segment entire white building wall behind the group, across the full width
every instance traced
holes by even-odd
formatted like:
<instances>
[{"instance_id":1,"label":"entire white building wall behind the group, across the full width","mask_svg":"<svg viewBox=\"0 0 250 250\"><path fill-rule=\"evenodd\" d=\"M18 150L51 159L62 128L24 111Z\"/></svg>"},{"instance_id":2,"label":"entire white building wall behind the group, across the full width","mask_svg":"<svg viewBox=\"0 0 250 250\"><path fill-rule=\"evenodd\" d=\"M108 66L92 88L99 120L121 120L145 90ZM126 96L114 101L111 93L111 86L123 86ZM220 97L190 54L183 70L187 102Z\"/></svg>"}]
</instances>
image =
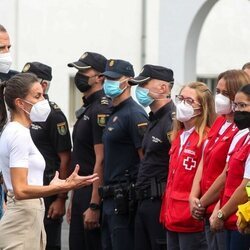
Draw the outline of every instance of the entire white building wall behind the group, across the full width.
<instances>
[{"instance_id":1,"label":"entire white building wall behind the group, across the full width","mask_svg":"<svg viewBox=\"0 0 250 250\"><path fill-rule=\"evenodd\" d=\"M187 80L183 65L188 27L202 4L212 1L145 1L145 63L173 68L177 83L182 84ZM0 23L12 40L13 68L21 70L27 61L35 60L51 65L50 97L68 116L68 80L75 70L67 63L77 60L83 52L96 51L107 58L131 61L136 73L140 72L142 2L1 0ZM250 61L249 16L248 0L218 1L203 25L196 72L191 67L190 76L217 74Z\"/></svg>"}]
</instances>

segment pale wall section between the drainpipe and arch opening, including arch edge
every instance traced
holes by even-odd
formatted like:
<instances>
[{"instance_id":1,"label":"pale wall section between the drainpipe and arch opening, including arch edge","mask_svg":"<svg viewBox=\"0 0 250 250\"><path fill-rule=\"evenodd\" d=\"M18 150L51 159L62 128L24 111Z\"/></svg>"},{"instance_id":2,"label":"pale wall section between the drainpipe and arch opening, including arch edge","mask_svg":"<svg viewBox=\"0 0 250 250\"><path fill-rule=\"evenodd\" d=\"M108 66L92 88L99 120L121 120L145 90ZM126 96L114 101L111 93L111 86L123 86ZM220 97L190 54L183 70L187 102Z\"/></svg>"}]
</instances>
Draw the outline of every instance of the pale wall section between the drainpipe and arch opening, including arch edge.
<instances>
[{"instance_id":1,"label":"pale wall section between the drainpipe and arch opening, including arch edge","mask_svg":"<svg viewBox=\"0 0 250 250\"><path fill-rule=\"evenodd\" d=\"M196 51L202 24L217 0L161 0L159 64L174 70L172 95L196 80Z\"/></svg>"}]
</instances>

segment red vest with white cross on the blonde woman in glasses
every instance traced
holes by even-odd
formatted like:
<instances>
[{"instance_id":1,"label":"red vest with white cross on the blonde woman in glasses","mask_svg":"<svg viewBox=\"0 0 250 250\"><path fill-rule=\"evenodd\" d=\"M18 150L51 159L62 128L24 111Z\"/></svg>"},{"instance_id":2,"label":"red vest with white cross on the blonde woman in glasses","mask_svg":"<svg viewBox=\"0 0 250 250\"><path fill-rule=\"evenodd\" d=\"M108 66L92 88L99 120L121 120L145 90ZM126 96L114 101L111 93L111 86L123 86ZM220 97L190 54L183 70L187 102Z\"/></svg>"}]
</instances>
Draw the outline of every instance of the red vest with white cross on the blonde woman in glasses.
<instances>
[{"instance_id":1,"label":"red vest with white cross on the blonde woman in glasses","mask_svg":"<svg viewBox=\"0 0 250 250\"><path fill-rule=\"evenodd\" d=\"M203 221L195 220L191 216L189 194L201 159L204 141L198 147L199 135L193 131L179 154L181 132L169 151L169 174L160 222L171 231L200 232L204 229L204 224Z\"/></svg>"}]
</instances>

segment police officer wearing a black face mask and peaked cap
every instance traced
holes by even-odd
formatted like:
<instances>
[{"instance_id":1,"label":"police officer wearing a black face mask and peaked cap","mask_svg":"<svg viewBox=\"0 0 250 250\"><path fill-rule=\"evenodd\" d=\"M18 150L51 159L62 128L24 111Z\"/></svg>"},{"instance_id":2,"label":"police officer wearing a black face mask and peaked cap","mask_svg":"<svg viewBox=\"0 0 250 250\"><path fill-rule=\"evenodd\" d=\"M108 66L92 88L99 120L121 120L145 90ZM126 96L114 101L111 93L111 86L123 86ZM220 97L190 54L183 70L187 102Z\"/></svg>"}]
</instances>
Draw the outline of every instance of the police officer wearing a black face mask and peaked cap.
<instances>
[{"instance_id":1,"label":"police officer wearing a black face mask and peaked cap","mask_svg":"<svg viewBox=\"0 0 250 250\"><path fill-rule=\"evenodd\" d=\"M80 165L80 175L98 173L99 181L87 188L74 190L71 205L69 246L71 250L101 249L100 197L102 185L102 132L111 113L111 102L103 92L107 59L98 53L85 52L69 67L78 70L75 85L83 93L84 105L76 112L73 130L72 166Z\"/></svg>"}]
</instances>

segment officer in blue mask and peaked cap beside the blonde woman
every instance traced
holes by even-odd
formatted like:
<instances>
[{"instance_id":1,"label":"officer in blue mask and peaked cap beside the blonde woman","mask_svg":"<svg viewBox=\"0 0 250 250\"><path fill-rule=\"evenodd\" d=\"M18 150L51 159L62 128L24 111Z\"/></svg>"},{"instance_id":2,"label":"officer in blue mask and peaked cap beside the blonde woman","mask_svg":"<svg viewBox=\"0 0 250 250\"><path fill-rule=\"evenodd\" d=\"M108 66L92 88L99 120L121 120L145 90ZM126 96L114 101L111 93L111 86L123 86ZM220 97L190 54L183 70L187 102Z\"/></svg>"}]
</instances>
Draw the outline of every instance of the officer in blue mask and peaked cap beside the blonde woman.
<instances>
[{"instance_id":1,"label":"officer in blue mask and peaked cap beside the blonde woman","mask_svg":"<svg viewBox=\"0 0 250 250\"><path fill-rule=\"evenodd\" d=\"M173 82L171 69L149 64L144 65L139 76L129 80L131 85L138 85L135 90L138 102L151 109L136 181L136 250L166 249L166 232L159 223L159 215L168 174L169 139L175 109L170 99Z\"/></svg>"}]
</instances>

